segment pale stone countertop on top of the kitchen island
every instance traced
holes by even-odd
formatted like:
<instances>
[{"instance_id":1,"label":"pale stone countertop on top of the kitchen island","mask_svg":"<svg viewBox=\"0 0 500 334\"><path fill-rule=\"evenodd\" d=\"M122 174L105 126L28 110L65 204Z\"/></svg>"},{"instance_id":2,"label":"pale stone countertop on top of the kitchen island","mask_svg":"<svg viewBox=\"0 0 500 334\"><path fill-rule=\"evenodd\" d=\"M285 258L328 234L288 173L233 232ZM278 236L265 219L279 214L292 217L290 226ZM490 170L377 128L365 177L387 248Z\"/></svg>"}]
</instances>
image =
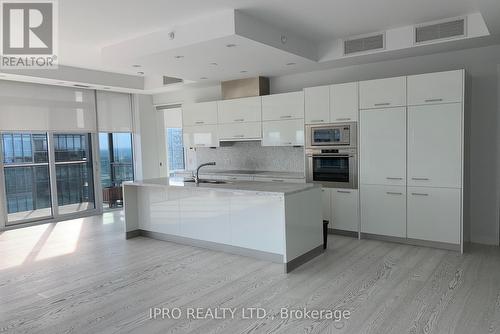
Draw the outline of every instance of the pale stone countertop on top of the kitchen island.
<instances>
[{"instance_id":1,"label":"pale stone countertop on top of the kitchen island","mask_svg":"<svg viewBox=\"0 0 500 334\"><path fill-rule=\"evenodd\" d=\"M220 191L247 191L269 194L293 194L312 187L319 187L313 183L287 183L287 182L255 182L255 181L227 181L227 183L212 184L184 182L183 177L158 178L142 181L124 182L126 186L153 186L153 187L185 187L189 189L210 189Z\"/></svg>"}]
</instances>

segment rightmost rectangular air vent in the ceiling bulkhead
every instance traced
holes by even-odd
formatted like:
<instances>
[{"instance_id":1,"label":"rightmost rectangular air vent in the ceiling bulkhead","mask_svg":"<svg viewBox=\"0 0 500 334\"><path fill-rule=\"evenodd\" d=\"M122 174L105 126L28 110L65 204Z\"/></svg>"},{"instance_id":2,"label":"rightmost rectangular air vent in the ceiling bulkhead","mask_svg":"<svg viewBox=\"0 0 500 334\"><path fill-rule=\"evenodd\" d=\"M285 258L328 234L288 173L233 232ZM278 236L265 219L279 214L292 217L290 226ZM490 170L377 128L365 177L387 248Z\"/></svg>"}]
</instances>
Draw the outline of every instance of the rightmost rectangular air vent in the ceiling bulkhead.
<instances>
[{"instance_id":1,"label":"rightmost rectangular air vent in the ceiling bulkhead","mask_svg":"<svg viewBox=\"0 0 500 334\"><path fill-rule=\"evenodd\" d=\"M415 44L464 36L465 18L415 27Z\"/></svg>"}]
</instances>

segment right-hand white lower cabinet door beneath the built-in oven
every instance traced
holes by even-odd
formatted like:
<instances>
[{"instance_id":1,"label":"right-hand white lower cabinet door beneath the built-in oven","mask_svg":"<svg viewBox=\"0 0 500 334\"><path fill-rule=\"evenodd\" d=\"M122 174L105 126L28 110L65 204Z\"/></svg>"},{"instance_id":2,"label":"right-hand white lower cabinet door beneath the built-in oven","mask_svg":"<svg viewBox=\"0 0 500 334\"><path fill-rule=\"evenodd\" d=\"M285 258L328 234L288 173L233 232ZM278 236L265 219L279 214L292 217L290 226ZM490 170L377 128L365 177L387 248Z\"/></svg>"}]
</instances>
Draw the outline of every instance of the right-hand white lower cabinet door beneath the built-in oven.
<instances>
[{"instance_id":1,"label":"right-hand white lower cabinet door beneath the built-in oven","mask_svg":"<svg viewBox=\"0 0 500 334\"><path fill-rule=\"evenodd\" d=\"M359 194L357 189L332 189L331 228L358 232Z\"/></svg>"}]
</instances>

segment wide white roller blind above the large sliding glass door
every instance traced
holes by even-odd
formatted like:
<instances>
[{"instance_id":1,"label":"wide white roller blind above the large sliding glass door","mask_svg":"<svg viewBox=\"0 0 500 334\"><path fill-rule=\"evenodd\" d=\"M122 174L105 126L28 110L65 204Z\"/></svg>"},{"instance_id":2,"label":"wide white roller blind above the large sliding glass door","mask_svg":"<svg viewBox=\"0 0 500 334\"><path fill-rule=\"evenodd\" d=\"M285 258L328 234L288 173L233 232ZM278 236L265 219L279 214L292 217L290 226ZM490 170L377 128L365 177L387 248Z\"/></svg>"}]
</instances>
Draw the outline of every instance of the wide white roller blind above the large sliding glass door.
<instances>
[{"instance_id":1,"label":"wide white roller blind above the large sliding glass door","mask_svg":"<svg viewBox=\"0 0 500 334\"><path fill-rule=\"evenodd\" d=\"M0 81L1 131L96 131L94 91Z\"/></svg>"}]
</instances>

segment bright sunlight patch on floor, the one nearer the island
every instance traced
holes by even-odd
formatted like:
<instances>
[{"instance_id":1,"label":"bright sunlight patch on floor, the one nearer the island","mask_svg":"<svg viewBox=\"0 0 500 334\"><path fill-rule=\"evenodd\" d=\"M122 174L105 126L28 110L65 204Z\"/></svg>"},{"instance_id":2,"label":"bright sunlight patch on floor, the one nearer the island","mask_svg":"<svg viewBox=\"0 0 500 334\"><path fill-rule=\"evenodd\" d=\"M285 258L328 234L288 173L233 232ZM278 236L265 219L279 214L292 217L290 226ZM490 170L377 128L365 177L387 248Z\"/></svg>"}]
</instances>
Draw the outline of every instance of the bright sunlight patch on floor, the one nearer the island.
<instances>
[{"instance_id":1,"label":"bright sunlight patch on floor, the one nearer the island","mask_svg":"<svg viewBox=\"0 0 500 334\"><path fill-rule=\"evenodd\" d=\"M73 253L80 238L83 220L79 218L57 223L35 260Z\"/></svg>"}]
</instances>

